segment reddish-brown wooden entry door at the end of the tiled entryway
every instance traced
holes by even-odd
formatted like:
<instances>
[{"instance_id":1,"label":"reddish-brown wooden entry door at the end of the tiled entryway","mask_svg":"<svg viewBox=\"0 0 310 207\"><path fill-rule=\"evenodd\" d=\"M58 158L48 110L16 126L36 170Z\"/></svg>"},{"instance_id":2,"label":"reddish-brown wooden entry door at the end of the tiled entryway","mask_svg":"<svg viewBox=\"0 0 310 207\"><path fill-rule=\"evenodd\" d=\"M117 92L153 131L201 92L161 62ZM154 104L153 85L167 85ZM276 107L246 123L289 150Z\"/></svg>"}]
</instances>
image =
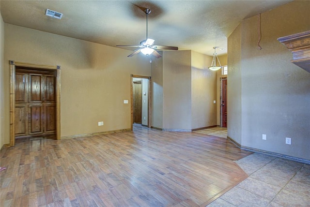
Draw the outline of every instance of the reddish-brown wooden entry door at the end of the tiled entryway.
<instances>
[{"instance_id":1,"label":"reddish-brown wooden entry door at the end of the tiled entryway","mask_svg":"<svg viewBox=\"0 0 310 207\"><path fill-rule=\"evenodd\" d=\"M221 78L220 87L220 119L221 127L227 128L227 78Z\"/></svg>"}]
</instances>

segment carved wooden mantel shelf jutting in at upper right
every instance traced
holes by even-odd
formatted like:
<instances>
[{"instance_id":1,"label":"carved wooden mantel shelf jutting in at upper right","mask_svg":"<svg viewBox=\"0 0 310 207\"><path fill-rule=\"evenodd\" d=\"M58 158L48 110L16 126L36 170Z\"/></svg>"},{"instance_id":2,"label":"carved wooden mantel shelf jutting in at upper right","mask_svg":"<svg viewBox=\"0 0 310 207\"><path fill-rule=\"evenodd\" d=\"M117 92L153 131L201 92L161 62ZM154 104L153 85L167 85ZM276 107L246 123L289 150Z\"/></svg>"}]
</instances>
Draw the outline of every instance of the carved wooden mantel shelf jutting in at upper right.
<instances>
[{"instance_id":1,"label":"carved wooden mantel shelf jutting in at upper right","mask_svg":"<svg viewBox=\"0 0 310 207\"><path fill-rule=\"evenodd\" d=\"M278 40L292 51L291 62L310 73L310 31L279 37Z\"/></svg>"}]
</instances>

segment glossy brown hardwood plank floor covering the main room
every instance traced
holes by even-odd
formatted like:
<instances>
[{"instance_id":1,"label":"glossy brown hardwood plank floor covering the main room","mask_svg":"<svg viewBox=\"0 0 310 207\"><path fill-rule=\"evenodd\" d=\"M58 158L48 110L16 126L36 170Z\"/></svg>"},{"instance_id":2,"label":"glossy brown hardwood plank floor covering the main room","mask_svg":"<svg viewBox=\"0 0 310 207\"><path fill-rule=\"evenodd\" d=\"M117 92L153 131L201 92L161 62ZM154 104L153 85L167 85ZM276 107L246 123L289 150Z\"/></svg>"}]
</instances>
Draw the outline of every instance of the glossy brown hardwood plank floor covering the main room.
<instances>
[{"instance_id":1,"label":"glossy brown hardwood plank floor covering the main room","mask_svg":"<svg viewBox=\"0 0 310 207\"><path fill-rule=\"evenodd\" d=\"M225 138L144 127L1 150L1 207L206 206L247 174Z\"/></svg>"}]
</instances>

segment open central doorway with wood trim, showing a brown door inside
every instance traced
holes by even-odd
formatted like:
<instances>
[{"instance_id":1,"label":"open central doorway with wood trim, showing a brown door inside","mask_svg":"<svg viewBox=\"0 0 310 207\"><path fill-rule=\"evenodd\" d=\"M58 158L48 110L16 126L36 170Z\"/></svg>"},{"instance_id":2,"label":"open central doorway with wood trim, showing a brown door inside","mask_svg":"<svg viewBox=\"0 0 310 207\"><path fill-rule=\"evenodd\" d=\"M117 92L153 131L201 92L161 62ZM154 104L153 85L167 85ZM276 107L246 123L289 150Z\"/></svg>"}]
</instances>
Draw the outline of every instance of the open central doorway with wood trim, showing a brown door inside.
<instances>
[{"instance_id":1,"label":"open central doorway with wood trim, showing a brown door inside","mask_svg":"<svg viewBox=\"0 0 310 207\"><path fill-rule=\"evenodd\" d=\"M131 75L131 130L133 124L151 128L151 77Z\"/></svg>"}]
</instances>

